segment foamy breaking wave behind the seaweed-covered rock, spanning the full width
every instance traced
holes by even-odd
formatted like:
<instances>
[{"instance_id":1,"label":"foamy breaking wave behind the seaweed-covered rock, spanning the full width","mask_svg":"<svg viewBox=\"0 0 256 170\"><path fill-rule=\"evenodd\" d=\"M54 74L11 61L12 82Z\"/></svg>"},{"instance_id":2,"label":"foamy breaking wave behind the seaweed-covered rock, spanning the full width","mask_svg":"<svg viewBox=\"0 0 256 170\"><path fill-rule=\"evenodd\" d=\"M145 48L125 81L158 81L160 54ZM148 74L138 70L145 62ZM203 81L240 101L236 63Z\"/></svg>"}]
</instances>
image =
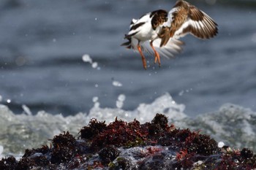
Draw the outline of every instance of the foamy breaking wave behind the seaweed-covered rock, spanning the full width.
<instances>
[{"instance_id":1,"label":"foamy breaking wave behind the seaweed-covered rock, spanning the full width","mask_svg":"<svg viewBox=\"0 0 256 170\"><path fill-rule=\"evenodd\" d=\"M60 134L62 131L78 136L78 131L87 125L91 118L105 120L110 123L118 119L141 123L152 120L155 114L163 113L169 123L179 128L200 130L208 134L217 142L224 142L236 148L256 148L256 112L234 104L224 104L218 111L209 112L197 117L189 117L184 113L184 104L177 104L169 93L156 98L151 104L140 104L135 110L124 110L122 104L125 96L121 95L116 101L116 108L100 107L97 98L94 98L94 107L89 113L79 112L76 115L64 117L51 115L40 111L32 115L29 108L23 105L24 112L15 115L7 106L0 105L0 158L4 155L22 155L25 149L50 144L47 139ZM2 155L1 155L2 154Z\"/></svg>"}]
</instances>

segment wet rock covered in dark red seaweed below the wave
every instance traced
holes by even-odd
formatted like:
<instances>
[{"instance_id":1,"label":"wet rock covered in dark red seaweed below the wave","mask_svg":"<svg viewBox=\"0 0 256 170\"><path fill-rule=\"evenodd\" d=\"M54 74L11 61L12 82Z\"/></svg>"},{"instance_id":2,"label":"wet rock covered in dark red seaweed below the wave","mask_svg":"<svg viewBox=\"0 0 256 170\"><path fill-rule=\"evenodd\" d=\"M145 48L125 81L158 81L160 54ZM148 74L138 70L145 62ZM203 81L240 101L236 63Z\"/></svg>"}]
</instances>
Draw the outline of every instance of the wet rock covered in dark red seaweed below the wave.
<instances>
[{"instance_id":1,"label":"wet rock covered in dark red seaweed below the wave","mask_svg":"<svg viewBox=\"0 0 256 170\"><path fill-rule=\"evenodd\" d=\"M200 131L168 125L162 114L144 124L91 119L79 133L54 136L19 161L2 158L0 169L256 169L252 150L219 148Z\"/></svg>"}]
</instances>

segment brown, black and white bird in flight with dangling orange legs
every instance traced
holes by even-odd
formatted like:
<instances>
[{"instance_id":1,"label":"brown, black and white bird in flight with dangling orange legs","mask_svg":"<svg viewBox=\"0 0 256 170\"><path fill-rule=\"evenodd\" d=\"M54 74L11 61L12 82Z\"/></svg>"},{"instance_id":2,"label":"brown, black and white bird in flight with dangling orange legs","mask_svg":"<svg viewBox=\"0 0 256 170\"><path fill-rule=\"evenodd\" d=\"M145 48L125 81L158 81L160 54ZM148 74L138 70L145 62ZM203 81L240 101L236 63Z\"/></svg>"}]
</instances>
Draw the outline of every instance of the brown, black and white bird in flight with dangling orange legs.
<instances>
[{"instance_id":1,"label":"brown, black and white bird in flight with dangling orange legs","mask_svg":"<svg viewBox=\"0 0 256 170\"><path fill-rule=\"evenodd\" d=\"M187 1L178 0L170 12L159 9L138 20L132 19L129 33L124 36L128 42L122 45L138 50L146 69L143 51L154 54L154 63L161 66L160 55L172 58L181 52L184 43L178 39L182 36L192 34L200 39L209 39L217 33L217 23L205 12Z\"/></svg>"}]
</instances>

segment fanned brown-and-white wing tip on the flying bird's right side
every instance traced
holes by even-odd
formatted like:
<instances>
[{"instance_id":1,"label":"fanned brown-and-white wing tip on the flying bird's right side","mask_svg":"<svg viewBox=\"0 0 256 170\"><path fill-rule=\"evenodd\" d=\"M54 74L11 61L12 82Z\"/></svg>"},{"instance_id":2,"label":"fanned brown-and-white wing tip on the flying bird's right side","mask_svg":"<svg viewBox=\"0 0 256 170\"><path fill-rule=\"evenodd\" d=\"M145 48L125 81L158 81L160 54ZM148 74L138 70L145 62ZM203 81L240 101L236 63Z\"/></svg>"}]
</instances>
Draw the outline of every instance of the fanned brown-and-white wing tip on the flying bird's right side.
<instances>
[{"instance_id":1,"label":"fanned brown-and-white wing tip on the flying bird's right side","mask_svg":"<svg viewBox=\"0 0 256 170\"><path fill-rule=\"evenodd\" d=\"M191 5L187 20L176 30L173 37L178 39L186 34L192 34L200 39L209 39L217 35L217 26L205 12Z\"/></svg>"}]
</instances>

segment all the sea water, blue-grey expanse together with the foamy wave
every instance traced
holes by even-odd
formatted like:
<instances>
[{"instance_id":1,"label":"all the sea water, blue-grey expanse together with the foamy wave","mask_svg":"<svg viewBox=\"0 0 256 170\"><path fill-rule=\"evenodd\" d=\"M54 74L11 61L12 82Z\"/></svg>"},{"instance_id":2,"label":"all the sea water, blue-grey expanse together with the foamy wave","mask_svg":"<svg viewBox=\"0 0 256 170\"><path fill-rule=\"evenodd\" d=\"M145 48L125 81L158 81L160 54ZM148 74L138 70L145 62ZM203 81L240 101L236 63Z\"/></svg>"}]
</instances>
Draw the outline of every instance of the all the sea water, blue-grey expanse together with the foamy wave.
<instances>
[{"instance_id":1,"label":"all the sea water, blue-grey expanse together with the foamy wave","mask_svg":"<svg viewBox=\"0 0 256 170\"><path fill-rule=\"evenodd\" d=\"M255 1L195 1L214 39L154 65L124 49L132 18L175 1L0 1L0 145L4 155L77 134L91 117L150 121L157 112L234 147L255 148ZM1 153L1 148L0 148Z\"/></svg>"}]
</instances>

